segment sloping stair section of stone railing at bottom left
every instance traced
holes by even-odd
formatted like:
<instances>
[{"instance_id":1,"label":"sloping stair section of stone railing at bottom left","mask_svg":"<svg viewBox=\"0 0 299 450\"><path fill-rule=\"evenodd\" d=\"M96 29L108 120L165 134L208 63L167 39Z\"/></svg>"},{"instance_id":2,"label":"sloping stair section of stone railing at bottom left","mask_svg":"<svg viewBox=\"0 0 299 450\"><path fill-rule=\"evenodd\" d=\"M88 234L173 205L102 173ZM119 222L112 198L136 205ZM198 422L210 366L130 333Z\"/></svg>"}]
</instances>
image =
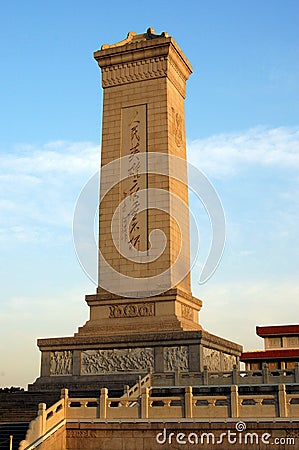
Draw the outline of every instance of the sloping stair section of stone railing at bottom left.
<instances>
[{"instance_id":1,"label":"sloping stair section of stone railing at bottom left","mask_svg":"<svg viewBox=\"0 0 299 450\"><path fill-rule=\"evenodd\" d=\"M68 390L62 389L61 399L46 409L45 403L38 406L37 417L30 422L25 440L21 441L19 450L38 448L57 430L65 427Z\"/></svg>"}]
</instances>

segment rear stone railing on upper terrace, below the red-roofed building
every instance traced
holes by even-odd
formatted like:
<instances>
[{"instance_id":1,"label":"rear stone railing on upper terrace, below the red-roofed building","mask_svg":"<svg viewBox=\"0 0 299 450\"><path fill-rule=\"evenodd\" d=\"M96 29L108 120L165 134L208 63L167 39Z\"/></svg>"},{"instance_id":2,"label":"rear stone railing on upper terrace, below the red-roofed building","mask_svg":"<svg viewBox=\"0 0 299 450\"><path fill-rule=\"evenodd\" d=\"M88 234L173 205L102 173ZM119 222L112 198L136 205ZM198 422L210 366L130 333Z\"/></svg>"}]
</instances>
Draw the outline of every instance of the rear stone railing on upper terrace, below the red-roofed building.
<instances>
[{"instance_id":1,"label":"rear stone railing on upper terrace, below the red-roofed building","mask_svg":"<svg viewBox=\"0 0 299 450\"><path fill-rule=\"evenodd\" d=\"M261 370L233 370L226 372L209 372L205 367L202 372L164 372L152 374L154 386L225 386L247 384L290 384L299 383L299 364L294 369L270 370L267 364Z\"/></svg>"}]
</instances>

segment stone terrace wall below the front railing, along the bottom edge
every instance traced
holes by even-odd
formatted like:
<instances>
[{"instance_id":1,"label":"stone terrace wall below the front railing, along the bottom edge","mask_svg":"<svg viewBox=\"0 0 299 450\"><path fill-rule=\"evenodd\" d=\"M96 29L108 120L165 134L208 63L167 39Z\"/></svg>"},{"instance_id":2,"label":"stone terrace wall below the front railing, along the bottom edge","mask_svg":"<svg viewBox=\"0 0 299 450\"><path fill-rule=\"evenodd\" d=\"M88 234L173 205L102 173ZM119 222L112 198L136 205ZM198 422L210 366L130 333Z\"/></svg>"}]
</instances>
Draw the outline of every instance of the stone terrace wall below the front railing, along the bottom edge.
<instances>
[{"instance_id":1,"label":"stone terrace wall below the front railing, along the bottom edge","mask_svg":"<svg viewBox=\"0 0 299 450\"><path fill-rule=\"evenodd\" d=\"M247 419L243 432L236 431L240 419L184 419L67 423L65 437L51 441L51 450L173 450L179 448L210 450L268 450L276 439L277 448L294 450L298 442L298 421L291 419ZM243 424L243 422L240 422ZM247 434L247 437L245 435ZM54 435L55 436L55 435ZM230 440L228 438L230 436ZM57 436L57 440L59 436ZM237 442L237 445L233 445ZM190 444L188 445L188 443ZM217 445L219 444L220 445ZM221 445L222 443L222 445ZM182 445L183 444L183 445ZM187 445L184 445L187 444ZM195 445L193 445L195 444ZM65 445L65 447L63 447ZM298 444L297 444L298 445ZM274 446L273 446L274 447ZM271 448L271 447L270 447ZM274 447L275 448L275 447ZM298 448L298 447L297 447Z\"/></svg>"}]
</instances>

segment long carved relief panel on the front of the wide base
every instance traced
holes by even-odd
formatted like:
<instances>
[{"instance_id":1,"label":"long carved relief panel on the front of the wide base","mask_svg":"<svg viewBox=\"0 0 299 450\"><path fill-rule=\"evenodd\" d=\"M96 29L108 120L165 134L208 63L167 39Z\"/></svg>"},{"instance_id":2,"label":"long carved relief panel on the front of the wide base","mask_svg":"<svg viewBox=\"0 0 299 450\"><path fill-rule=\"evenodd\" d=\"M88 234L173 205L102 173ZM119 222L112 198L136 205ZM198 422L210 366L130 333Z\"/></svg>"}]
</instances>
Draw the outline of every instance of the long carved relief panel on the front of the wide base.
<instances>
[{"instance_id":1,"label":"long carved relief panel on the front of the wide base","mask_svg":"<svg viewBox=\"0 0 299 450\"><path fill-rule=\"evenodd\" d=\"M152 348L85 350L81 357L81 374L148 371L154 366Z\"/></svg>"}]
</instances>

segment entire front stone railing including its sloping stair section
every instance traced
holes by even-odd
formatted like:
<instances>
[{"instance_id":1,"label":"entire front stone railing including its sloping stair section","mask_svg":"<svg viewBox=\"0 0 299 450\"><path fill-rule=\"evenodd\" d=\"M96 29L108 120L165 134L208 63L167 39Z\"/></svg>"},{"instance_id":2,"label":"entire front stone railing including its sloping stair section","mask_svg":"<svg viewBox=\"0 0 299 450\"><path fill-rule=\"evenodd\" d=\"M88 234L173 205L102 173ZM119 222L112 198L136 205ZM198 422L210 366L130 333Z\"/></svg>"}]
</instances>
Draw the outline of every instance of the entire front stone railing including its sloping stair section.
<instances>
[{"instance_id":1,"label":"entire front stone railing including its sloping stair section","mask_svg":"<svg viewBox=\"0 0 299 450\"><path fill-rule=\"evenodd\" d=\"M143 384L147 384L145 380ZM101 389L99 398L69 398L63 389L61 399L46 409L39 404L38 416L30 423L20 450L41 448L58 430L57 447L64 448L68 421L98 420L167 420L167 419L225 419L225 418L299 418L299 387L278 384L268 386L185 386L173 388L143 387L141 394L111 398L108 389ZM270 389L269 389L270 388ZM245 391L244 391L245 389ZM240 392L239 392L240 391ZM57 433L56 433L57 435ZM49 441L47 441L49 442Z\"/></svg>"}]
</instances>

